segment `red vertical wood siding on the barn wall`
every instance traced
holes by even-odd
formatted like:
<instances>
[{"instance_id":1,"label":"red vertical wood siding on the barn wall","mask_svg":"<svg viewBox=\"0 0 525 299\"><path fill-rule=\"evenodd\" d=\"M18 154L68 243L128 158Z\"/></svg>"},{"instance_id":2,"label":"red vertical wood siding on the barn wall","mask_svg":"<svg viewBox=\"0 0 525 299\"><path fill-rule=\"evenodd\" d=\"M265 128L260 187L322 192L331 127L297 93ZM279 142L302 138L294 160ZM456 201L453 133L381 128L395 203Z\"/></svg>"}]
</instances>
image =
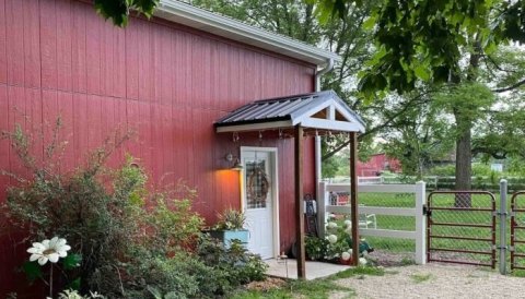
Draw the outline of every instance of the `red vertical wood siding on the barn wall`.
<instances>
[{"instance_id":1,"label":"red vertical wood siding on the barn wall","mask_svg":"<svg viewBox=\"0 0 525 299\"><path fill-rule=\"evenodd\" d=\"M314 89L315 67L163 20L131 20L126 29L73 0L0 0L0 130L16 124L45 141L61 116L68 141L61 169L79 166L109 132L136 130L129 152L154 184L182 179L198 190L195 208L211 224L240 205L238 174L223 170L240 145L278 147L281 250L293 241L293 140L214 133L213 121L260 98ZM266 134L266 133L265 133ZM306 142L305 192L314 192L314 144ZM44 156L44 143L33 150ZM0 140L0 168L23 172ZM0 177L0 202L10 184ZM0 217L1 223L2 217ZM27 258L14 231L0 231L0 297L24 289L14 273ZM24 297L19 297L24 298Z\"/></svg>"}]
</instances>

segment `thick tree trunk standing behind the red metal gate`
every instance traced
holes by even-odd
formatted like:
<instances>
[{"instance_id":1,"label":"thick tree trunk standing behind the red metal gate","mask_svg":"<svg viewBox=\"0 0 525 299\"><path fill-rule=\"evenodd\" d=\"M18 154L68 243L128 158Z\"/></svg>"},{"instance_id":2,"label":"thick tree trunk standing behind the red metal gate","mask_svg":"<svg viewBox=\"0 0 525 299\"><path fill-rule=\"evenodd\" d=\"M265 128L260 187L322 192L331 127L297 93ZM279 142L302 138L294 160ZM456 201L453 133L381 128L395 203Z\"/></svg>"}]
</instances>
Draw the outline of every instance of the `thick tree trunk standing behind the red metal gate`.
<instances>
[{"instance_id":1,"label":"thick tree trunk standing behind the red metal gate","mask_svg":"<svg viewBox=\"0 0 525 299\"><path fill-rule=\"evenodd\" d=\"M470 190L471 189L471 128L472 122L465 118L460 112L455 112L457 124L456 136L456 190ZM454 205L456 207L470 207L471 199L469 194L457 194Z\"/></svg>"}]
</instances>

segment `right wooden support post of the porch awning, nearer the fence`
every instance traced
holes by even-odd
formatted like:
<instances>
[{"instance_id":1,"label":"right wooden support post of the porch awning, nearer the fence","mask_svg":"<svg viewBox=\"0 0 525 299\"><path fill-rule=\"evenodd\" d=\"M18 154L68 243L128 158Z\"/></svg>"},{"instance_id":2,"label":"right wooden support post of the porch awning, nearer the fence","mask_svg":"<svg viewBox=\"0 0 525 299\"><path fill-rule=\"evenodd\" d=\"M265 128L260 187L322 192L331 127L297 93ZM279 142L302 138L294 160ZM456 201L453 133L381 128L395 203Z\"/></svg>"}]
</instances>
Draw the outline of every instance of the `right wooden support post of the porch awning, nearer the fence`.
<instances>
[{"instance_id":1,"label":"right wooden support post of the porch awning, nearer the fence","mask_svg":"<svg viewBox=\"0 0 525 299\"><path fill-rule=\"evenodd\" d=\"M352 222L352 264L359 263L359 215L358 215L358 134L350 132L350 211Z\"/></svg>"}]
</instances>

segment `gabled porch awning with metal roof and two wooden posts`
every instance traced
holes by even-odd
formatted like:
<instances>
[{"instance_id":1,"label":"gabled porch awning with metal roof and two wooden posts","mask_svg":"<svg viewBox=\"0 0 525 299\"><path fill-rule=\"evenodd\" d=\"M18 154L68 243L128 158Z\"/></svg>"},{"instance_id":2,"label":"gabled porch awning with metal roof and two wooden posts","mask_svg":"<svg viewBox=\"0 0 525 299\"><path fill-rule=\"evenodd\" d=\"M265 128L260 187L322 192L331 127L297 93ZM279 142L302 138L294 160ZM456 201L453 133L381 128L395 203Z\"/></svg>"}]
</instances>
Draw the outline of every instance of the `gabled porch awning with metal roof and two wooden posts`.
<instances>
[{"instance_id":1,"label":"gabled porch awning with metal roof and two wooden posts","mask_svg":"<svg viewBox=\"0 0 525 299\"><path fill-rule=\"evenodd\" d=\"M298 243L298 277L305 277L304 206L303 206L303 136L348 132L350 135L350 199L353 241L353 263L359 254L357 214L357 134L363 133L364 122L334 91L279 98L261 99L244 105L219 119L218 133L293 131L295 174L295 224Z\"/></svg>"}]
</instances>

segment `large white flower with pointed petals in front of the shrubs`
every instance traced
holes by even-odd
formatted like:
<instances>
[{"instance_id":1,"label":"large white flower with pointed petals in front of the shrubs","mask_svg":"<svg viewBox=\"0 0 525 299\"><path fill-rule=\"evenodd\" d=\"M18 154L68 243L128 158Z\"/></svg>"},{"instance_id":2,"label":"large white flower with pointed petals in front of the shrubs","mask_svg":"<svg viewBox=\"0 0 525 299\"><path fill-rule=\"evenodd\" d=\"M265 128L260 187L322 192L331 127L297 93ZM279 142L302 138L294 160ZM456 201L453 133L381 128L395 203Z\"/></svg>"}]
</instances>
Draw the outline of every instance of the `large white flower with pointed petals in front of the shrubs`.
<instances>
[{"instance_id":1,"label":"large white flower with pointed petals in front of the shrubs","mask_svg":"<svg viewBox=\"0 0 525 299\"><path fill-rule=\"evenodd\" d=\"M45 265L47 261L56 263L58 259L68 256L68 250L70 249L71 247L67 244L66 239L55 237L51 240L34 242L33 247L27 249L27 252L31 253L30 261L38 260L38 264Z\"/></svg>"}]
</instances>

